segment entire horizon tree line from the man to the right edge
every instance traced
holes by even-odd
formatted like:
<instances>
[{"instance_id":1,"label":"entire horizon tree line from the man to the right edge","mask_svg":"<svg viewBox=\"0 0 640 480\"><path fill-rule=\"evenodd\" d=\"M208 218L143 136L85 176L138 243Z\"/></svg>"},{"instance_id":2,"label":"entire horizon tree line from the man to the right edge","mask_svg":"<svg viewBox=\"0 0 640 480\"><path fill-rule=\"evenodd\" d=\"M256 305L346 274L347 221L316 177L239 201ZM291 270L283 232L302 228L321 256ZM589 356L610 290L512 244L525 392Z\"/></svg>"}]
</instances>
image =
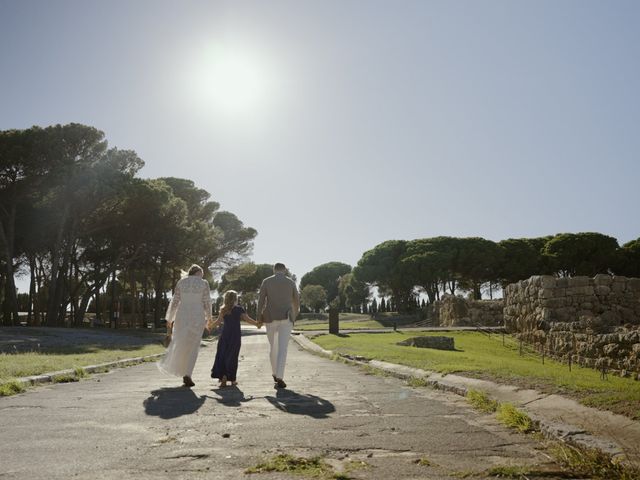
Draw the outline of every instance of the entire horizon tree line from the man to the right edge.
<instances>
[{"instance_id":1,"label":"entire horizon tree line from the man to the right edge","mask_svg":"<svg viewBox=\"0 0 640 480\"><path fill-rule=\"evenodd\" d=\"M481 299L532 275L640 276L640 238L622 246L597 232L560 233L494 242L480 237L389 240L366 251L355 267L318 265L302 276L308 311L412 312L444 294ZM381 299L371 301L372 289ZM427 302L421 297L426 297Z\"/></svg>"}]
</instances>

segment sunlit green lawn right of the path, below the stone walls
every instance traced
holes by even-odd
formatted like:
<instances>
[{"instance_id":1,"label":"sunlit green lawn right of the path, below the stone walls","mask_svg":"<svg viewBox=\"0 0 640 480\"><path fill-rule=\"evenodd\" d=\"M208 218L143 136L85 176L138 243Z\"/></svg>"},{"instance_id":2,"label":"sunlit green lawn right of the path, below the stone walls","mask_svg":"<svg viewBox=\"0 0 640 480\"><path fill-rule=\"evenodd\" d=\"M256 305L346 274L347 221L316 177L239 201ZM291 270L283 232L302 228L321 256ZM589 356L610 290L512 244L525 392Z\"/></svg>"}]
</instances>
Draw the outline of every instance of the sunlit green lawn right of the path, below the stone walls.
<instances>
[{"instance_id":1,"label":"sunlit green lawn right of the path, below the stone walls","mask_svg":"<svg viewBox=\"0 0 640 480\"><path fill-rule=\"evenodd\" d=\"M421 335L442 335L422 333ZM640 382L600 373L590 368L573 366L546 359L525 349L519 355L518 344L510 337L478 332L447 332L454 337L456 351L403 347L396 345L414 334L354 333L344 336L321 335L313 340L337 353L361 355L440 373L459 373L497 382L535 388L548 393L562 393L584 405L610 410L640 420Z\"/></svg>"}]
</instances>

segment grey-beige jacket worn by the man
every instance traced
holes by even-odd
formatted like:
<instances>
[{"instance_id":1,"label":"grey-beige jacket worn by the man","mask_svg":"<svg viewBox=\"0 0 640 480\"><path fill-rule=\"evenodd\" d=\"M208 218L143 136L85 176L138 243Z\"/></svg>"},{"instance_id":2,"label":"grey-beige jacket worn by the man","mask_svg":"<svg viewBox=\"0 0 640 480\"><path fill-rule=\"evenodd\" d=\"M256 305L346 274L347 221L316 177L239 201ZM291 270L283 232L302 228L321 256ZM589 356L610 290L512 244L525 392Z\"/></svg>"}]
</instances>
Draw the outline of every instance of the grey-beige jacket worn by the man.
<instances>
[{"instance_id":1,"label":"grey-beige jacket worn by the man","mask_svg":"<svg viewBox=\"0 0 640 480\"><path fill-rule=\"evenodd\" d=\"M264 323L274 320L295 321L300 311L300 296L293 280L284 273L265 278L260 286L258 319Z\"/></svg>"}]
</instances>

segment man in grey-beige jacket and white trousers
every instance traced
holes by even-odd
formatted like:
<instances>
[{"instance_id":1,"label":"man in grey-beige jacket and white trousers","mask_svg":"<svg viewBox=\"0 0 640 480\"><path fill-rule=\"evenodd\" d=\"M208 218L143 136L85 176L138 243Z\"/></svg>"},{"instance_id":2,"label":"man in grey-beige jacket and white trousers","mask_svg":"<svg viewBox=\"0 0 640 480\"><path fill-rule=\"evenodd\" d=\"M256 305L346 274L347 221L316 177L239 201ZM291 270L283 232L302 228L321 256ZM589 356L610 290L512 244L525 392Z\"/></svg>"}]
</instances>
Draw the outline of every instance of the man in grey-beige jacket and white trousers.
<instances>
[{"instance_id":1,"label":"man in grey-beige jacket and white trousers","mask_svg":"<svg viewBox=\"0 0 640 480\"><path fill-rule=\"evenodd\" d=\"M300 296L293 280L286 276L287 267L276 263L273 275L265 278L260 286L258 300L258 321L267 328L269 357L274 388L286 388L284 365L287 361L287 347L293 322L300 311Z\"/></svg>"}]
</instances>

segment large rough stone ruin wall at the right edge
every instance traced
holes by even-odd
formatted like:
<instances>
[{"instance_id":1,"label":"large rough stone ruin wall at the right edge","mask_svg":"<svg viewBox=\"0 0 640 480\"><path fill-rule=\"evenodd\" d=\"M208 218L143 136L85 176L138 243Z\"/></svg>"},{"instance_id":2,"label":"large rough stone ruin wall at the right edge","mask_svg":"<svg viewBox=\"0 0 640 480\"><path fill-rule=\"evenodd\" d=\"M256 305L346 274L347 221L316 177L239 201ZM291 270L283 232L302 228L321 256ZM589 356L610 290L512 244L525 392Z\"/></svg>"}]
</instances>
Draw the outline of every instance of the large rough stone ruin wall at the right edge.
<instances>
[{"instance_id":1,"label":"large rough stone ruin wall at the right edge","mask_svg":"<svg viewBox=\"0 0 640 480\"><path fill-rule=\"evenodd\" d=\"M640 379L640 278L534 276L504 294L507 331L559 360Z\"/></svg>"}]
</instances>

